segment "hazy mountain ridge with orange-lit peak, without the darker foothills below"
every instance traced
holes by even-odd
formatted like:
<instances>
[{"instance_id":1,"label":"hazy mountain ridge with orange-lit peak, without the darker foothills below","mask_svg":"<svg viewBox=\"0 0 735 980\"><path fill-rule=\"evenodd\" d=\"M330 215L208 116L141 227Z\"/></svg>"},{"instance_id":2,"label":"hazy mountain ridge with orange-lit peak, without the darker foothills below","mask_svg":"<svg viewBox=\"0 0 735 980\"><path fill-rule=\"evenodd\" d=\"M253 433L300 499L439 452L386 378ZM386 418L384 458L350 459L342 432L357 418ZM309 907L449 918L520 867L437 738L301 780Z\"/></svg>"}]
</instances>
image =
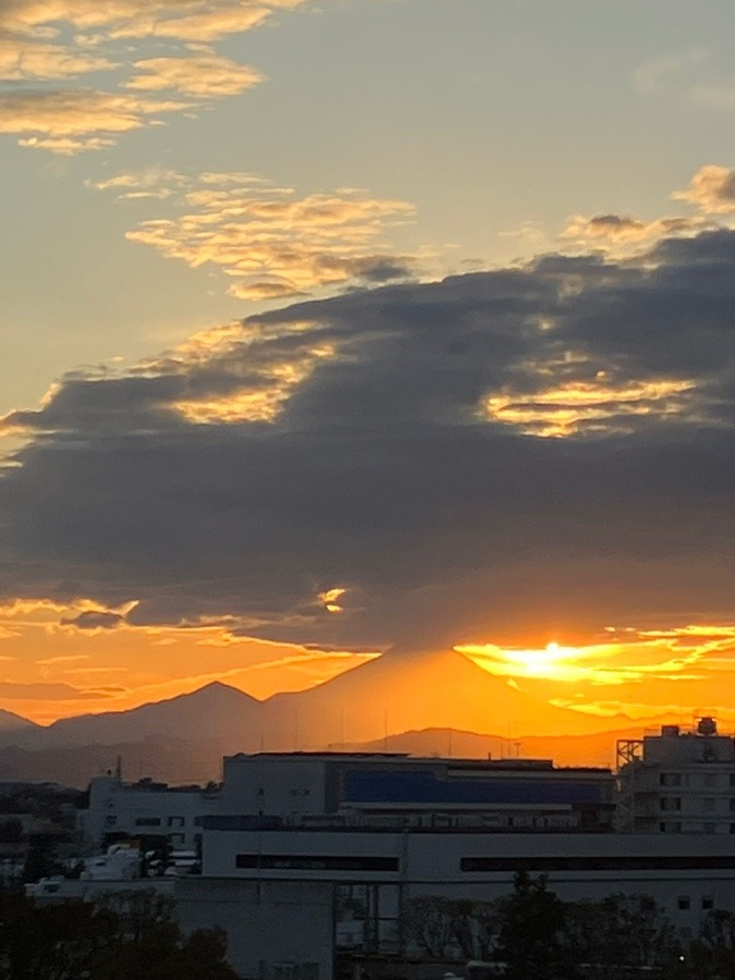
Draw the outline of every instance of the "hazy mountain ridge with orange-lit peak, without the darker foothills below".
<instances>
[{"instance_id":1,"label":"hazy mountain ridge with orange-lit peak, without the darker foothills below","mask_svg":"<svg viewBox=\"0 0 735 980\"><path fill-rule=\"evenodd\" d=\"M335 743L367 743L390 731L429 727L532 735L583 735L630 725L556 708L490 674L454 650L391 651L311 688L259 700L213 681L187 694L136 708L79 714L48 726L3 731L0 746L60 748L114 745L149 738L218 740L230 751L319 750Z\"/></svg>"}]
</instances>

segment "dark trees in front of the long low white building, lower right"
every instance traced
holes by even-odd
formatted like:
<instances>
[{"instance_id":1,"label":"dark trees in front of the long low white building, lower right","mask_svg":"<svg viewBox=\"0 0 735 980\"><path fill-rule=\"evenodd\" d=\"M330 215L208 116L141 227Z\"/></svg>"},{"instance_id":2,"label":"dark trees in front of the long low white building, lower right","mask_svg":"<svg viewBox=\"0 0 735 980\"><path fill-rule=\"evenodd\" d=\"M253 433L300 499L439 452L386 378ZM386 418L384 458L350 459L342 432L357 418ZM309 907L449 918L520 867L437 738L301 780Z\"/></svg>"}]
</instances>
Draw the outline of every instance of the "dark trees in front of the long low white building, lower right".
<instances>
[{"instance_id":1,"label":"dark trees in front of the long low white building, lower right","mask_svg":"<svg viewBox=\"0 0 735 980\"><path fill-rule=\"evenodd\" d=\"M518 872L495 902L436 895L403 908L404 946L436 960L502 965L506 980L735 980L735 915L708 911L684 943L650 895L562 902L543 877Z\"/></svg>"}]
</instances>

